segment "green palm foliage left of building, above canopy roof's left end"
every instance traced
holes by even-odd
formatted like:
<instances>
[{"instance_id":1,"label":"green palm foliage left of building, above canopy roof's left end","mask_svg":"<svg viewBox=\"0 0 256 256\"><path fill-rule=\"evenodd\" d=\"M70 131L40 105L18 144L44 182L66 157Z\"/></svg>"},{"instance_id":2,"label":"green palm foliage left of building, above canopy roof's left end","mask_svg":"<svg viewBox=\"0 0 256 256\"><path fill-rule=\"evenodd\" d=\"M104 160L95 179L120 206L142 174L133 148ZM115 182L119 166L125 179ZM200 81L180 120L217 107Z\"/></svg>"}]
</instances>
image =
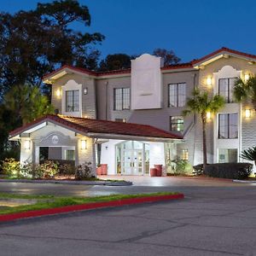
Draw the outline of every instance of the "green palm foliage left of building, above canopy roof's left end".
<instances>
[{"instance_id":1,"label":"green palm foliage left of building, above canopy roof's left end","mask_svg":"<svg viewBox=\"0 0 256 256\"><path fill-rule=\"evenodd\" d=\"M3 98L6 110L13 113L15 119L26 125L34 119L48 113L54 113L47 96L43 96L37 86L14 86Z\"/></svg>"}]
</instances>

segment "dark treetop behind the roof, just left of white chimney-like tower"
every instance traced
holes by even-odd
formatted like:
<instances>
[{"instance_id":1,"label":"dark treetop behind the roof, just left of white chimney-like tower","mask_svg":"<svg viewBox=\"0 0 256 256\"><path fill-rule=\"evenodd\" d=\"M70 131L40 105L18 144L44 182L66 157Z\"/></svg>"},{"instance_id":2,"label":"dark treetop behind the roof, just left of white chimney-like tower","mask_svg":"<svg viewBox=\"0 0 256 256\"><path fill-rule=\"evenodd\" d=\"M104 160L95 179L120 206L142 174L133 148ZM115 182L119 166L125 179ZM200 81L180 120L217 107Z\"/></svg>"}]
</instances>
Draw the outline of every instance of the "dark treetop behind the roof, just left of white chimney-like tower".
<instances>
[{"instance_id":1,"label":"dark treetop behind the roof, just left of white chimney-like tower","mask_svg":"<svg viewBox=\"0 0 256 256\"><path fill-rule=\"evenodd\" d=\"M131 67L131 56L125 54L107 55L100 62L99 71L126 69Z\"/></svg>"}]
</instances>

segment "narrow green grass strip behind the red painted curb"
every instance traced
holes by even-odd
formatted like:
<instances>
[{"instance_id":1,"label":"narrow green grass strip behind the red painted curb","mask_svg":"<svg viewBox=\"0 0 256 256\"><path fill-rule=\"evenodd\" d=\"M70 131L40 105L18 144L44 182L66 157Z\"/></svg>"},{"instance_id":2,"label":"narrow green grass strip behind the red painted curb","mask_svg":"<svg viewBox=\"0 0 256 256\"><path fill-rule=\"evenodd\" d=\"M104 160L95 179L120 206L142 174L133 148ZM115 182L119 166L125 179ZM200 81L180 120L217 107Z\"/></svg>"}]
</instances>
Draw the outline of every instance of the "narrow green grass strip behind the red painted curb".
<instances>
[{"instance_id":1,"label":"narrow green grass strip behind the red painted curb","mask_svg":"<svg viewBox=\"0 0 256 256\"><path fill-rule=\"evenodd\" d=\"M177 192L158 192L150 194L136 194L136 195L104 195L94 197L73 197L73 196L55 196L55 195L15 195L0 193L0 199L33 199L37 200L37 203L32 205L23 205L18 207L4 207L0 208L0 214L8 214L15 212L27 212L32 210L41 210L55 207L66 207L91 202L100 201L114 201L128 198L152 196L152 195L176 195Z\"/></svg>"}]
</instances>

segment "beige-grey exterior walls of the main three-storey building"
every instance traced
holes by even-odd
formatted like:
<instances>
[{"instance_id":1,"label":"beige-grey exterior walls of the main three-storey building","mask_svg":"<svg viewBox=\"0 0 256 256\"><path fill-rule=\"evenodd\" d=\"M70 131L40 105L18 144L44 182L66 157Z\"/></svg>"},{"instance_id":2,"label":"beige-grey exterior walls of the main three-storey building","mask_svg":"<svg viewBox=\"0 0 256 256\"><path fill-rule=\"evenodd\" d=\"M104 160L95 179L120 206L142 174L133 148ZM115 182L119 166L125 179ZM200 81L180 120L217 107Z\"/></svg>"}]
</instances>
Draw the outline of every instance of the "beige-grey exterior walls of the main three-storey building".
<instances>
[{"instance_id":1,"label":"beige-grey exterior walls of the main three-storey building","mask_svg":"<svg viewBox=\"0 0 256 256\"><path fill-rule=\"evenodd\" d=\"M218 93L218 81L215 73L225 67L233 67L244 77L245 73L256 73L256 65L251 65L247 60L230 56L212 61L204 68L197 69L177 69L162 72L162 108L160 109L141 109L141 110L113 110L113 89L114 88L131 88L131 75L106 75L105 77L92 78L89 75L81 75L77 73L67 74L61 79L57 79L53 84L52 103L55 108L61 110L61 96L56 96L56 90L73 79L77 84L82 84L82 116L94 119L127 119L132 123L154 125L160 129L170 131L170 117L182 115L183 108L168 108L168 84L186 83L187 96L191 96L191 92L195 86L199 86L201 90L207 90L213 95ZM207 85L207 78L212 78L212 85ZM88 94L84 95L84 88L88 88ZM243 104L233 103L227 104L221 112L230 113L234 109L240 114L239 117L239 138L236 142L241 150L255 146L256 136L254 136L254 127L256 127L256 114L253 106L249 102ZM252 109L252 118L245 119L245 108ZM61 113L61 111L60 111ZM202 132L201 120L194 115L184 118L183 136L185 143L177 145L177 154L181 154L183 149L189 150L189 161L191 164L202 163ZM218 118L217 115L207 122L207 156L210 163L218 160L218 147L231 143L229 139L220 142L218 140ZM234 144L235 145L235 144ZM230 146L231 147L231 146ZM90 153L89 158L95 156ZM89 154L89 153L88 153Z\"/></svg>"}]
</instances>

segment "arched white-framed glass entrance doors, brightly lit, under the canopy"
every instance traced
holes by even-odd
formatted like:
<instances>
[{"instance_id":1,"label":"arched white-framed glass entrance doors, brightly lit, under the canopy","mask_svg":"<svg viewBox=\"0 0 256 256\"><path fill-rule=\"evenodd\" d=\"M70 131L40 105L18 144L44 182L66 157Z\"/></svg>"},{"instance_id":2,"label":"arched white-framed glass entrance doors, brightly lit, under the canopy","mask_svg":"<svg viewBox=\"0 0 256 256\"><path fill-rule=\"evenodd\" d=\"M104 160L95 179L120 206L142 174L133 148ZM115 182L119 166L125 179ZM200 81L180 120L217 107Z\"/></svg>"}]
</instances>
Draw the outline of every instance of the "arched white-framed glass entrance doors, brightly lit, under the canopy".
<instances>
[{"instance_id":1,"label":"arched white-framed glass entrance doors, brightly lit, under the canopy","mask_svg":"<svg viewBox=\"0 0 256 256\"><path fill-rule=\"evenodd\" d=\"M122 175L149 173L149 145L127 141L116 145L116 170Z\"/></svg>"}]
</instances>

